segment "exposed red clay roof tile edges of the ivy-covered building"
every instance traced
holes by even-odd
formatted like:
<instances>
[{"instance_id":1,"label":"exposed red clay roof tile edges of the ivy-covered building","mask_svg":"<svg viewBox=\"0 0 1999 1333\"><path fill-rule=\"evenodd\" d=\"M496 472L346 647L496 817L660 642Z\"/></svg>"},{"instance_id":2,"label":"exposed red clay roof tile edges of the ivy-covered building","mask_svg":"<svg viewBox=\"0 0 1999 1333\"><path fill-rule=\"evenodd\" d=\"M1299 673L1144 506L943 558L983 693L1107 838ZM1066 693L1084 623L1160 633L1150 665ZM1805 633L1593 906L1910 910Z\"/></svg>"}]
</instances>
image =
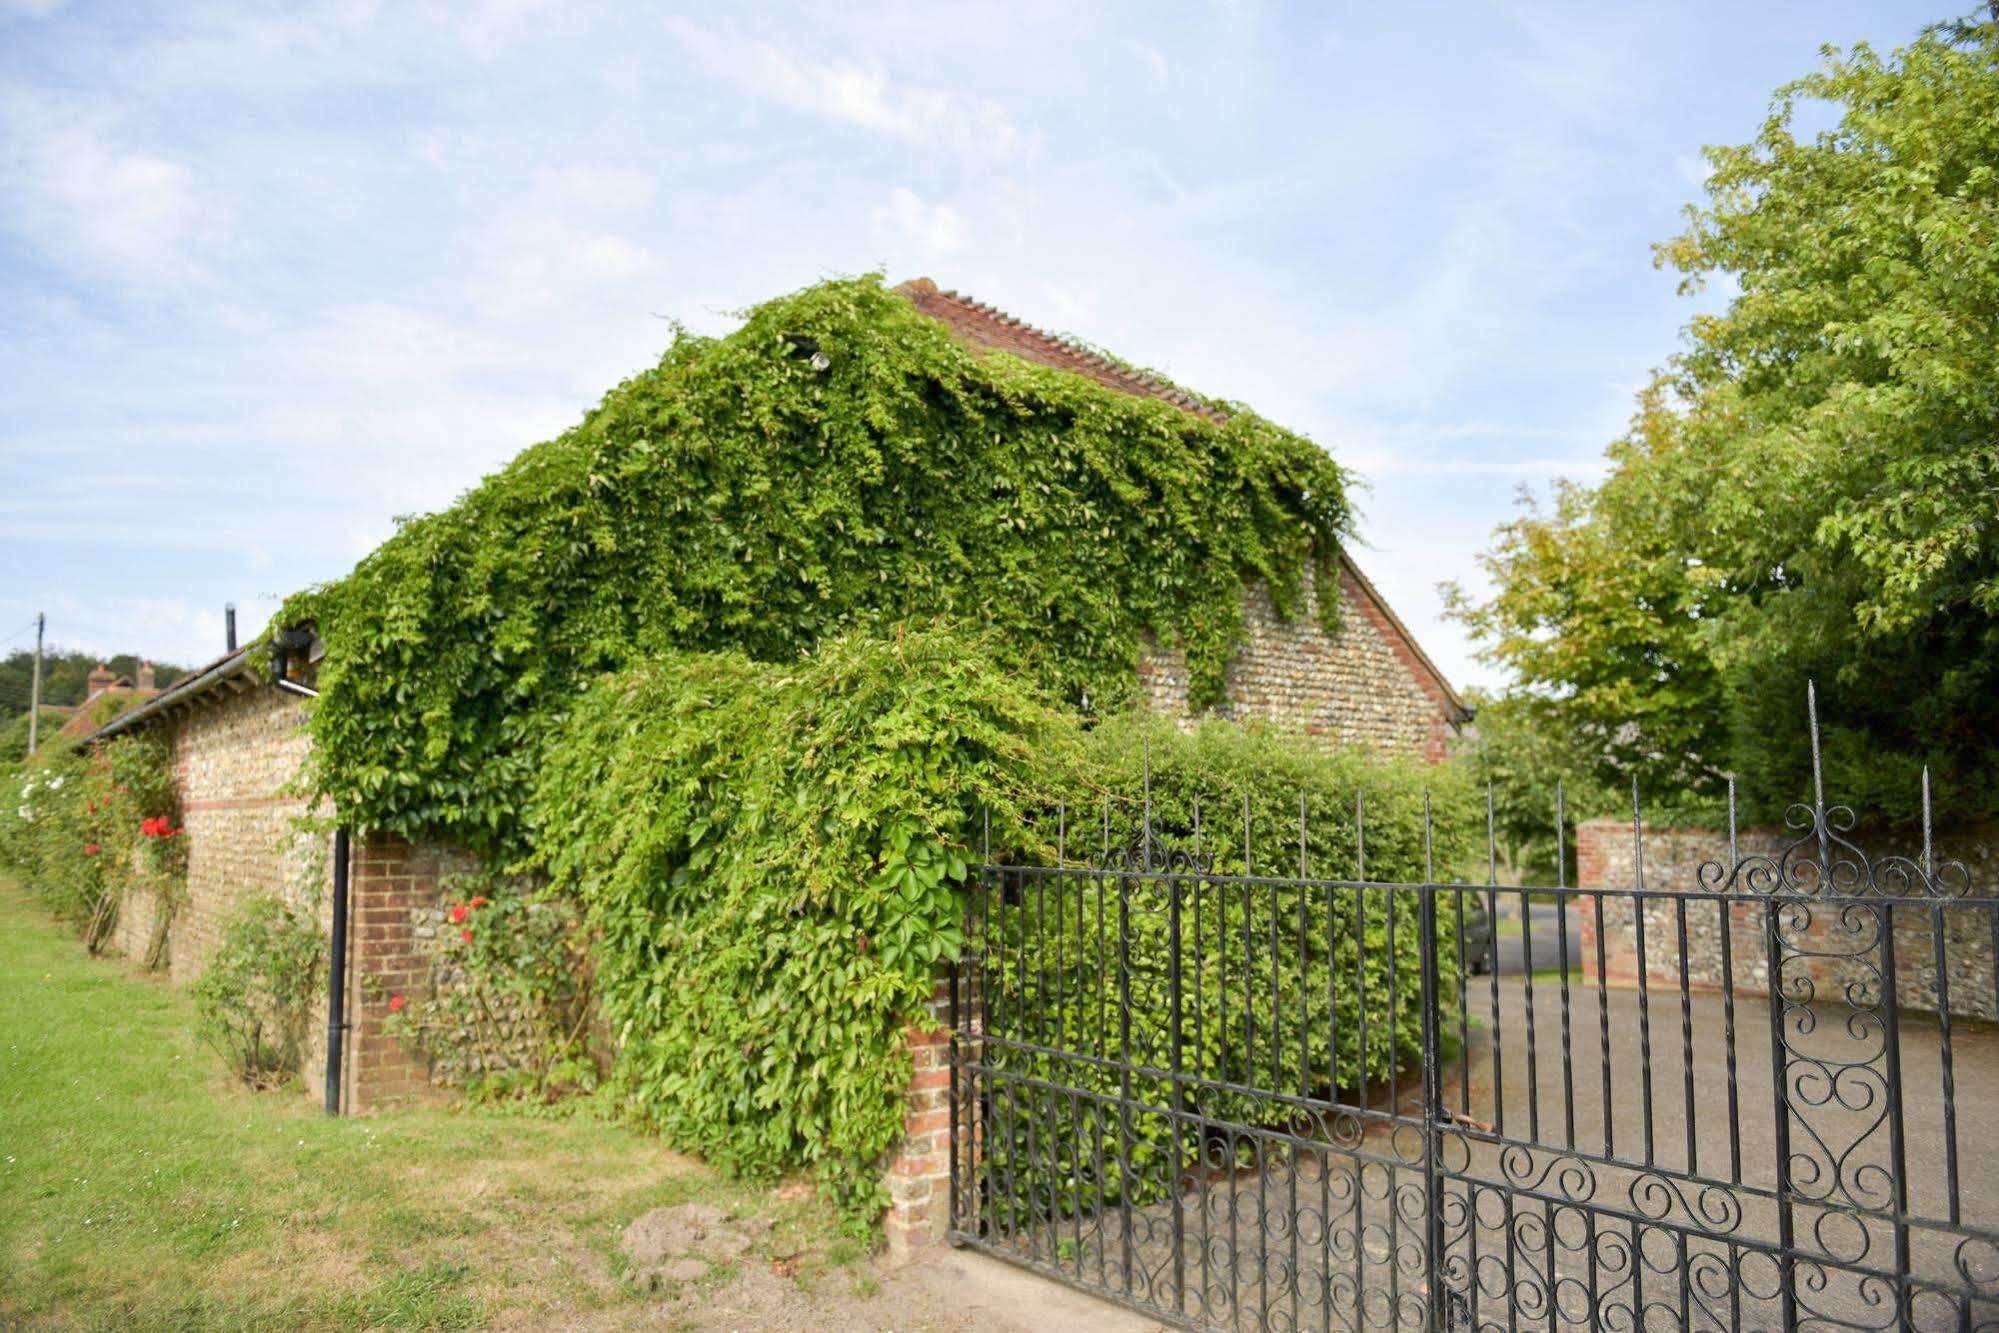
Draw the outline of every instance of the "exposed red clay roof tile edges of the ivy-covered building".
<instances>
[{"instance_id":1,"label":"exposed red clay roof tile edges of the ivy-covered building","mask_svg":"<svg viewBox=\"0 0 1999 1333\"><path fill-rule=\"evenodd\" d=\"M912 278L896 290L902 292L912 306L944 324L960 342L972 348L1011 352L1013 356L1037 366L1087 376L1089 380L1121 394L1157 398L1159 402L1203 416L1209 422L1229 420L1227 412L1201 402L1181 388L1157 380L1155 376L1147 376L1141 370L1119 366L1101 352L1073 338L1057 338L1055 334L1009 316L998 306L972 300L964 292L942 290L930 278ZM1395 656L1409 667L1409 673L1415 675L1425 691L1429 691L1429 695L1437 701L1437 707L1443 709L1445 717L1453 723L1469 721L1471 709L1451 687L1451 681L1443 677L1437 664L1429 660L1429 654L1423 652L1423 648L1415 642L1415 636L1409 634L1409 628L1401 624L1401 618L1395 616L1389 604L1381 598L1379 590L1367 580L1365 574L1361 574L1359 566L1353 564L1353 558L1347 556L1345 550L1339 552L1339 570L1347 576L1347 592L1361 604L1361 610L1377 622L1377 630L1383 632L1389 648L1395 650Z\"/></svg>"}]
</instances>

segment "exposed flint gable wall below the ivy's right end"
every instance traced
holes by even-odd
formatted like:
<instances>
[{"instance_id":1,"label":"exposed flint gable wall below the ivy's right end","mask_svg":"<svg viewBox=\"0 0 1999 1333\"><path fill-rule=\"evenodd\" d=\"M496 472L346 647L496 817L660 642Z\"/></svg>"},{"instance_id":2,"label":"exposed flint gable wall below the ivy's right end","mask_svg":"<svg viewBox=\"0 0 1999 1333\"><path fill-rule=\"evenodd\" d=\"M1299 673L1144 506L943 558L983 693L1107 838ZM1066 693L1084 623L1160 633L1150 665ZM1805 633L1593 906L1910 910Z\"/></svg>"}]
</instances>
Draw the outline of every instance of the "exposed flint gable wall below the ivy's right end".
<instances>
[{"instance_id":1,"label":"exposed flint gable wall below the ivy's right end","mask_svg":"<svg viewBox=\"0 0 1999 1333\"><path fill-rule=\"evenodd\" d=\"M1307 576L1303 612L1283 620L1269 590L1243 590L1243 642L1229 662L1227 713L1319 735L1327 745L1443 759L1451 737L1447 703L1401 630L1351 572L1339 578L1339 634L1319 626L1317 596ZM1147 707L1187 717L1183 652L1147 646L1137 671Z\"/></svg>"}]
</instances>

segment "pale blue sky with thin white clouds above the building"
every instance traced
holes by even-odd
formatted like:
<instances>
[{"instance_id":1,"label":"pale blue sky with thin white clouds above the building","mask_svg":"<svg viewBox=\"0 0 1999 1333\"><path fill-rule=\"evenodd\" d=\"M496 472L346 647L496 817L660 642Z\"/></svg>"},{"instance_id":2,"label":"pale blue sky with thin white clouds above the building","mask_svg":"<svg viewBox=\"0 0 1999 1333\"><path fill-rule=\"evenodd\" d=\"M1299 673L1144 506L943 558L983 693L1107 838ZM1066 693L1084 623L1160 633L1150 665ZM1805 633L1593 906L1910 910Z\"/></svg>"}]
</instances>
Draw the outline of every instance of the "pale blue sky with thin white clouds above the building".
<instances>
[{"instance_id":1,"label":"pale blue sky with thin white clouds above the building","mask_svg":"<svg viewBox=\"0 0 1999 1333\"><path fill-rule=\"evenodd\" d=\"M0 648L212 658L664 318L882 268L1309 434L1497 683L1437 582L1673 350L1701 146L1949 14L0 0Z\"/></svg>"}]
</instances>

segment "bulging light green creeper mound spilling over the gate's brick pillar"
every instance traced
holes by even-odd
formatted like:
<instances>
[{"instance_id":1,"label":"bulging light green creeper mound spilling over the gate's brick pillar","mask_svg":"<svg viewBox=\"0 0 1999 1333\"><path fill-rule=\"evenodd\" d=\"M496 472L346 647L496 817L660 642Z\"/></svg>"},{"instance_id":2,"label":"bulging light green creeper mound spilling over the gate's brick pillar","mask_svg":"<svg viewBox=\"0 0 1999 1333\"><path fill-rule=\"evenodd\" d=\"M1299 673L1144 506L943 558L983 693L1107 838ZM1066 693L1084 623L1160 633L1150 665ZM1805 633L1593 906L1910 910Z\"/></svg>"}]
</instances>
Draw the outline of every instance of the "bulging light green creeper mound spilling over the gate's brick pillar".
<instances>
[{"instance_id":1,"label":"bulging light green creeper mound spilling over the gate's brick pillar","mask_svg":"<svg viewBox=\"0 0 1999 1333\"><path fill-rule=\"evenodd\" d=\"M980 811L1023 837L1031 773L1069 753L990 642L942 630L784 666L670 654L592 687L530 823L596 933L616 1087L718 1165L816 1167L872 1227Z\"/></svg>"}]
</instances>

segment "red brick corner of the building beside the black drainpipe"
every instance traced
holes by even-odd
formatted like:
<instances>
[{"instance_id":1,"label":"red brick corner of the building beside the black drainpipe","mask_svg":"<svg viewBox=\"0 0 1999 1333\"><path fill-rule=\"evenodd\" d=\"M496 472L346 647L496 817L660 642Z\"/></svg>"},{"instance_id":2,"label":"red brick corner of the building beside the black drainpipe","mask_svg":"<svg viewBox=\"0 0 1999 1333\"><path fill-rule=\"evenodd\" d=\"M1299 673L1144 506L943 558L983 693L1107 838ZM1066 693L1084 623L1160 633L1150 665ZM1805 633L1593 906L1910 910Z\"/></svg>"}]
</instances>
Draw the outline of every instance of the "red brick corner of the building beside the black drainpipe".
<instances>
[{"instance_id":1,"label":"red brick corner of the building beside the black drainpipe","mask_svg":"<svg viewBox=\"0 0 1999 1333\"><path fill-rule=\"evenodd\" d=\"M440 853L400 837L356 839L348 869L346 1105L354 1113L432 1095L424 1053L388 1031L390 999L430 989L432 939L420 919L438 905Z\"/></svg>"}]
</instances>

